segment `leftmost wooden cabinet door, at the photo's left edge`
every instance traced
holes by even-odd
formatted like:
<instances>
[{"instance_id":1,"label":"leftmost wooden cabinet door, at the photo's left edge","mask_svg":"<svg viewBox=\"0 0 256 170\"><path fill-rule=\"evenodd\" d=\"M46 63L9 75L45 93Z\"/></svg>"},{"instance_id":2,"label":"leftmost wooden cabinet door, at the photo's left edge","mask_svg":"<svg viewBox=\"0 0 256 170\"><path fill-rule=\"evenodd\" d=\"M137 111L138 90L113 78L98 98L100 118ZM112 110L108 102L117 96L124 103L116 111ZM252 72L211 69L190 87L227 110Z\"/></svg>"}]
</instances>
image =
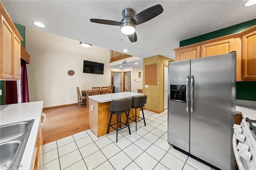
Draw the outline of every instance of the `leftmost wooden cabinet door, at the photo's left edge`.
<instances>
[{"instance_id":1,"label":"leftmost wooden cabinet door, at the photo's left edge","mask_svg":"<svg viewBox=\"0 0 256 170\"><path fill-rule=\"evenodd\" d=\"M1 27L1 74L0 78L13 78L12 41L13 32L3 16Z\"/></svg>"}]
</instances>

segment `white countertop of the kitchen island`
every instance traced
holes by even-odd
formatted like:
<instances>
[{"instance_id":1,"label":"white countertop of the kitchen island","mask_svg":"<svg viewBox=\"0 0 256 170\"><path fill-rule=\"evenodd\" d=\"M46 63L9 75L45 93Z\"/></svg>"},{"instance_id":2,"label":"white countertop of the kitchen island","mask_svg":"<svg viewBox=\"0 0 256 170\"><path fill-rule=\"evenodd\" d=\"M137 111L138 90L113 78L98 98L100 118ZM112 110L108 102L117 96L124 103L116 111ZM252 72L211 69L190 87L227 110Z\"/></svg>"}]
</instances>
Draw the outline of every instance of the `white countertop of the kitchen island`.
<instances>
[{"instance_id":1,"label":"white countertop of the kitchen island","mask_svg":"<svg viewBox=\"0 0 256 170\"><path fill-rule=\"evenodd\" d=\"M121 92L121 93L110 93L104 95L92 95L89 96L89 99L94 101L98 101L100 103L112 101L112 100L119 100L119 99L127 99L133 96L142 96L142 93L134 93L134 92Z\"/></svg>"}]
</instances>

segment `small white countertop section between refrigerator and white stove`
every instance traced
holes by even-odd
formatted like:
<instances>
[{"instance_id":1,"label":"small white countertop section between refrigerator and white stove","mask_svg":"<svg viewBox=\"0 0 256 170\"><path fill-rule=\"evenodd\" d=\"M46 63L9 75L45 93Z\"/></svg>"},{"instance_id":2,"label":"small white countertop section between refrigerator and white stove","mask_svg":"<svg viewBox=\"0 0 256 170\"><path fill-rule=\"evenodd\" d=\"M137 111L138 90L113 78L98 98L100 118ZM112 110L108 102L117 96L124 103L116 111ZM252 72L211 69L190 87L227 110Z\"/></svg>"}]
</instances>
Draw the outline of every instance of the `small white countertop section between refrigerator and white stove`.
<instances>
[{"instance_id":1,"label":"small white countertop section between refrigerator and white stove","mask_svg":"<svg viewBox=\"0 0 256 170\"><path fill-rule=\"evenodd\" d=\"M249 119L256 120L256 107L254 106L236 105L236 111L242 113L243 119L248 117Z\"/></svg>"}]
</instances>

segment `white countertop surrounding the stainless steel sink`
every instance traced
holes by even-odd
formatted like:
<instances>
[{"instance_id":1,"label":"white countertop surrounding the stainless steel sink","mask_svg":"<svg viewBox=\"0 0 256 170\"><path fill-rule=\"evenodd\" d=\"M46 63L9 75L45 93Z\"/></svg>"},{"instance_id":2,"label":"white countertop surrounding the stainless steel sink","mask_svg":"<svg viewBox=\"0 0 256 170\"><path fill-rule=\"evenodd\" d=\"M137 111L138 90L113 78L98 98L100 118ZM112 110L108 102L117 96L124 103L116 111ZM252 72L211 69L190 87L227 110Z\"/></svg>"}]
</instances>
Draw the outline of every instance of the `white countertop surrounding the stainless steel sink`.
<instances>
[{"instance_id":1,"label":"white countertop surrounding the stainless steel sink","mask_svg":"<svg viewBox=\"0 0 256 170\"><path fill-rule=\"evenodd\" d=\"M26 121L30 119L35 120L22 156L22 160L20 162L22 167L20 167L19 170L30 170L33 152L36 146L38 127L41 121L43 104L43 101L37 101L0 106L0 125Z\"/></svg>"}]
</instances>

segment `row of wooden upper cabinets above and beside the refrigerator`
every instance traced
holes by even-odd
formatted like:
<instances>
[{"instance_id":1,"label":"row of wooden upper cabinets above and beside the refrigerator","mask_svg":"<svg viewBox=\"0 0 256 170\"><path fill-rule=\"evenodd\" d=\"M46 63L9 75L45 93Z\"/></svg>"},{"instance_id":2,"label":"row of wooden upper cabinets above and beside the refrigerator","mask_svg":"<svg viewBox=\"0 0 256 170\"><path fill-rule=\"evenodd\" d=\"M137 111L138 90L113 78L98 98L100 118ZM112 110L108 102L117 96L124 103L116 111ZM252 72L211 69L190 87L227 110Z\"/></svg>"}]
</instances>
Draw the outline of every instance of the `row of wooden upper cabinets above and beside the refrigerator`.
<instances>
[{"instance_id":1,"label":"row of wooden upper cabinets above and beside the refrigerator","mask_svg":"<svg viewBox=\"0 0 256 170\"><path fill-rule=\"evenodd\" d=\"M174 49L175 61L236 51L236 81L256 81L256 26L243 32ZM200 52L198 52L200 51Z\"/></svg>"}]
</instances>

